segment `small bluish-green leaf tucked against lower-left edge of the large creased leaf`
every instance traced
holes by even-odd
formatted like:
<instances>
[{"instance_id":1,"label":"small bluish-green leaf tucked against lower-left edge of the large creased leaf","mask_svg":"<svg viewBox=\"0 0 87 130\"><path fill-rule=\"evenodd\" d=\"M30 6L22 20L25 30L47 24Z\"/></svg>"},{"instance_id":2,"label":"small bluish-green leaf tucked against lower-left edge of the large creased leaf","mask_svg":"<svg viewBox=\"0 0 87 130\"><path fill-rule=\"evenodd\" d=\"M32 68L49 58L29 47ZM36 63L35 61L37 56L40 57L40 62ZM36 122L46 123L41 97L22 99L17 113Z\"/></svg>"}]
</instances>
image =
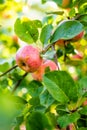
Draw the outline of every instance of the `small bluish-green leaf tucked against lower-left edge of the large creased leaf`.
<instances>
[{"instance_id":1,"label":"small bluish-green leaf tucked against lower-left edge of the large creased leaf","mask_svg":"<svg viewBox=\"0 0 87 130\"><path fill-rule=\"evenodd\" d=\"M40 104L49 107L52 103L54 102L53 97L49 94L47 90L45 90L41 95L40 95Z\"/></svg>"}]
</instances>

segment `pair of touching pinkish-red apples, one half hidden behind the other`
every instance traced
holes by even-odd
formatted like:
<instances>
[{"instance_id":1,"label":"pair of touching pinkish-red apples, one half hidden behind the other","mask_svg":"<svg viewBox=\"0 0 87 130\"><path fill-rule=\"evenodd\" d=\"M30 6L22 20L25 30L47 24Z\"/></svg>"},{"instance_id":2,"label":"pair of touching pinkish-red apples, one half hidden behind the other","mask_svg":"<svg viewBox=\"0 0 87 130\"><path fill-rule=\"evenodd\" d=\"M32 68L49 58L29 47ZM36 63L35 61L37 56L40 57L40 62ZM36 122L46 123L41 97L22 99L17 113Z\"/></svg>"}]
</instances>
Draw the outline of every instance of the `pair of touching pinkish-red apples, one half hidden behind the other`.
<instances>
[{"instance_id":1,"label":"pair of touching pinkish-red apples, one half hidden behind the other","mask_svg":"<svg viewBox=\"0 0 87 130\"><path fill-rule=\"evenodd\" d=\"M35 80L42 80L47 67L52 70L57 70L58 67L55 62L51 60L44 60L40 56L38 48L32 45L25 45L16 53L16 63L25 72L32 73L32 77Z\"/></svg>"}]
</instances>

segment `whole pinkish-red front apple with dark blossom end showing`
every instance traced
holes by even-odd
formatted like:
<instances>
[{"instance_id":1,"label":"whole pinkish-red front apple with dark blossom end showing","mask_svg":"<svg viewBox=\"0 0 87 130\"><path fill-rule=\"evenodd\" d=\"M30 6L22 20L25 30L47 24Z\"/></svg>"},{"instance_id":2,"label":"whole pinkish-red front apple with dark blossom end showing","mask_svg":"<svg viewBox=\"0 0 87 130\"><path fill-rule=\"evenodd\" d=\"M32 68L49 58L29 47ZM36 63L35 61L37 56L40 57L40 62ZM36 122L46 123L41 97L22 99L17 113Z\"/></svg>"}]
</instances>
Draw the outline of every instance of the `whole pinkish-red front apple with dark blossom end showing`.
<instances>
[{"instance_id":1,"label":"whole pinkish-red front apple with dark blossom end showing","mask_svg":"<svg viewBox=\"0 0 87 130\"><path fill-rule=\"evenodd\" d=\"M37 48L25 45L17 51L16 63L26 72L35 72L41 66L42 58Z\"/></svg>"}]
</instances>

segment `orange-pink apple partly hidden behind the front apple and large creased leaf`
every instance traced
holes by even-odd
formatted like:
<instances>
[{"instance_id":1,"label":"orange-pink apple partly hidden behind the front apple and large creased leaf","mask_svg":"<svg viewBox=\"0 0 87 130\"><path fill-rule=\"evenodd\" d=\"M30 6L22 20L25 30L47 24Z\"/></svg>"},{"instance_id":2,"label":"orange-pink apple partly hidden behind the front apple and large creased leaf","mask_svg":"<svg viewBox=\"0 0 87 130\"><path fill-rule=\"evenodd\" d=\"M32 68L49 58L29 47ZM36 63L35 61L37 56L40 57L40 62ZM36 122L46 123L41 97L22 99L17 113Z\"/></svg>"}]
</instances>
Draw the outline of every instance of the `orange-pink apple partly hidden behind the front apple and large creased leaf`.
<instances>
[{"instance_id":1,"label":"orange-pink apple partly hidden behind the front apple and large creased leaf","mask_svg":"<svg viewBox=\"0 0 87 130\"><path fill-rule=\"evenodd\" d=\"M53 62L51 60L43 61L43 63L41 64L40 68L36 72L32 73L32 77L34 78L34 80L41 81L42 77L43 77L43 75L45 73L45 69L47 67L49 67L49 69L51 71L58 70L58 67L55 64L55 62Z\"/></svg>"}]
</instances>

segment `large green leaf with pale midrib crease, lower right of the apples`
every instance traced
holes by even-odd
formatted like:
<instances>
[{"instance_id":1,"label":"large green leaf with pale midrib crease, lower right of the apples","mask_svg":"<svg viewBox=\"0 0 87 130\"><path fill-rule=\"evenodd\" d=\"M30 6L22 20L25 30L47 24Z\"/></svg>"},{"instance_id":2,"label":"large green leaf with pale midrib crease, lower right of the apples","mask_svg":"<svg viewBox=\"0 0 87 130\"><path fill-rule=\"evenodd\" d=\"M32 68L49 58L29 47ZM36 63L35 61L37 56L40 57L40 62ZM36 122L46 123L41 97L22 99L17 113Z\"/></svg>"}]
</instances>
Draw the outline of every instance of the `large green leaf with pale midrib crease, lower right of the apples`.
<instances>
[{"instance_id":1,"label":"large green leaf with pale midrib crease, lower right of the apples","mask_svg":"<svg viewBox=\"0 0 87 130\"><path fill-rule=\"evenodd\" d=\"M77 86L66 71L53 71L44 75L43 83L49 93L61 103L77 100Z\"/></svg>"}]
</instances>

